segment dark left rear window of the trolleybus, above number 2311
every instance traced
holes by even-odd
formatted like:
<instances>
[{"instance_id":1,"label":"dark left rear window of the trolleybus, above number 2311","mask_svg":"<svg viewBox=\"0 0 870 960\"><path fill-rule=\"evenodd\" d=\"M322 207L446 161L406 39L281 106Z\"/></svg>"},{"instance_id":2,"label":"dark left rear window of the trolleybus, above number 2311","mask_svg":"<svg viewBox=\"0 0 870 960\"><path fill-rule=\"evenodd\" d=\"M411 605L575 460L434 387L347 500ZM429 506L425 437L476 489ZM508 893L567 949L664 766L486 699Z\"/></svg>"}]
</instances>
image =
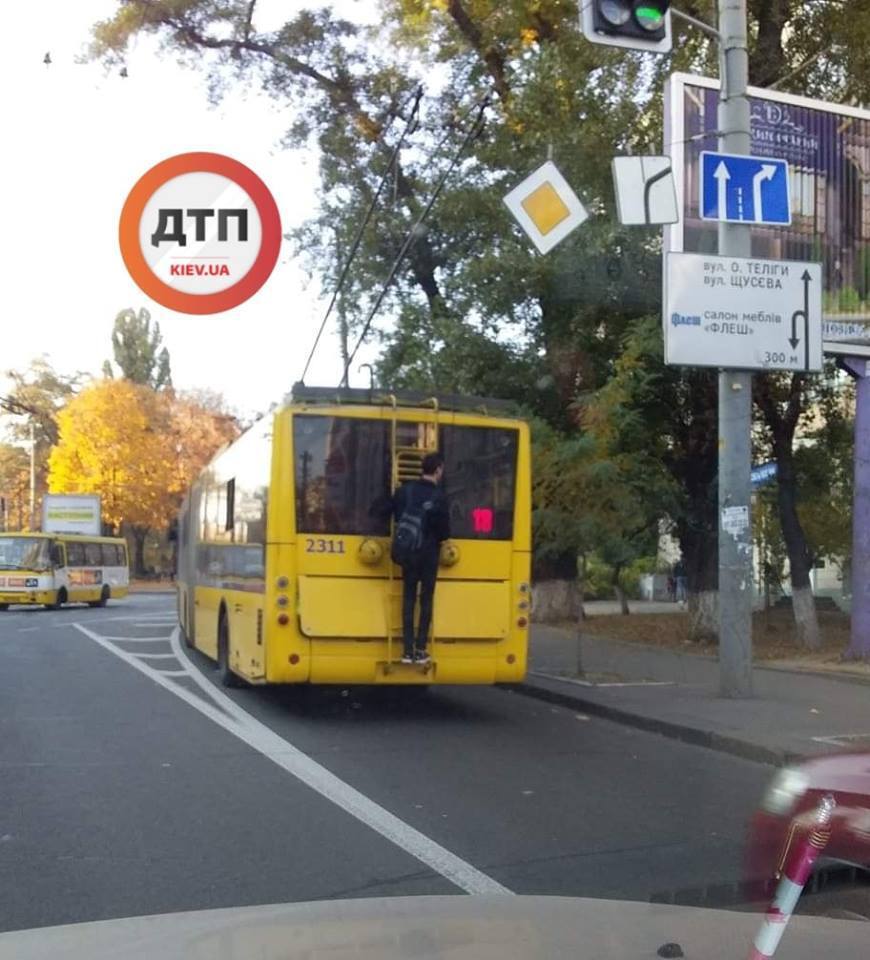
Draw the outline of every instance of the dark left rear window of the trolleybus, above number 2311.
<instances>
[{"instance_id":1,"label":"dark left rear window of the trolleybus, above number 2311","mask_svg":"<svg viewBox=\"0 0 870 960\"><path fill-rule=\"evenodd\" d=\"M297 531L387 536L389 441L381 420L295 417Z\"/></svg>"}]
</instances>

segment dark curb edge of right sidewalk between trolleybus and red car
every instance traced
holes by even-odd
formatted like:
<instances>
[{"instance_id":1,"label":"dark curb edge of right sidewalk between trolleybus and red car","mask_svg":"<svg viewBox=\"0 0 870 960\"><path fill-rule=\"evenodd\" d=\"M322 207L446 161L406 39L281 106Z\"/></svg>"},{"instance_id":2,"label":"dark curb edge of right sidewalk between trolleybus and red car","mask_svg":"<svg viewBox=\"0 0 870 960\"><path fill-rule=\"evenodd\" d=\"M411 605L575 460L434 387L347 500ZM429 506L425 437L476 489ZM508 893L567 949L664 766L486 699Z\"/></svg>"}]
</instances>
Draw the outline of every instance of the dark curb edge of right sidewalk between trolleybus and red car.
<instances>
[{"instance_id":1,"label":"dark curb edge of right sidewalk between trolleybus and red car","mask_svg":"<svg viewBox=\"0 0 870 960\"><path fill-rule=\"evenodd\" d=\"M552 682L559 683L558 680ZM573 690L553 689L549 685L536 683L535 681L527 680L525 683L514 684L510 689L536 700L543 700L546 703L554 703L561 707L569 707L570 709L579 708L584 713L589 713L605 720L613 720L624 726L635 727L638 730L645 730L649 733L659 733L672 740L681 740L683 743L690 743L693 746L718 750L720 753L728 753L731 756L740 757L742 760L752 760L755 763L783 766L787 763L806 759L806 757L801 754L764 747L760 744L740 740L737 737L729 737L712 730L702 730L698 727L690 727L688 724L674 723L671 720L660 720L658 717L649 717L644 714L633 713L621 707L614 707L610 704L584 697L582 693L576 693Z\"/></svg>"}]
</instances>

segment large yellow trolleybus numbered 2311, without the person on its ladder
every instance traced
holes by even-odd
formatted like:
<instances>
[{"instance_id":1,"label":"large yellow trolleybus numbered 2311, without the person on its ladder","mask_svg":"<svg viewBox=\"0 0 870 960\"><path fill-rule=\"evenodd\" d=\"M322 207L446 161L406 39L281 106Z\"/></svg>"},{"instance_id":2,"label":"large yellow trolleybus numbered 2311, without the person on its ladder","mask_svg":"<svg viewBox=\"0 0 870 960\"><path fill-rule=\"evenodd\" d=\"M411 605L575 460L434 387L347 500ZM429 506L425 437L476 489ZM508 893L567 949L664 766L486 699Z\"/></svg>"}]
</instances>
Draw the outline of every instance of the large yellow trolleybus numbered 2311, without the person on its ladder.
<instances>
[{"instance_id":1,"label":"large yellow trolleybus numbered 2311, without the person on its ladder","mask_svg":"<svg viewBox=\"0 0 870 960\"><path fill-rule=\"evenodd\" d=\"M528 426L498 401L297 385L219 453L178 522L186 642L248 683L492 684L525 676ZM445 460L429 664L400 663L401 571L377 509Z\"/></svg>"}]
</instances>

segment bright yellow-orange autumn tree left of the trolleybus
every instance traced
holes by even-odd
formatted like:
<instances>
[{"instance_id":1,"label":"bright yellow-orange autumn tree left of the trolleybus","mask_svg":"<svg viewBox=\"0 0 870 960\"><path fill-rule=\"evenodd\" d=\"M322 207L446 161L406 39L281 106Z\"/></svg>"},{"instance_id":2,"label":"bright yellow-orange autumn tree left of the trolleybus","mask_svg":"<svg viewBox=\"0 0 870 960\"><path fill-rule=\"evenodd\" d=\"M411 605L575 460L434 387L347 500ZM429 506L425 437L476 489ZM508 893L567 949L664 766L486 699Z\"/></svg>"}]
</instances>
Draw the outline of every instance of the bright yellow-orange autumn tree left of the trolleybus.
<instances>
[{"instance_id":1,"label":"bright yellow-orange autumn tree left of the trolleybus","mask_svg":"<svg viewBox=\"0 0 870 960\"><path fill-rule=\"evenodd\" d=\"M145 537L165 528L184 491L227 439L235 421L186 397L129 380L102 380L58 414L49 456L52 493L99 493L103 522L127 525L143 569Z\"/></svg>"}]
</instances>

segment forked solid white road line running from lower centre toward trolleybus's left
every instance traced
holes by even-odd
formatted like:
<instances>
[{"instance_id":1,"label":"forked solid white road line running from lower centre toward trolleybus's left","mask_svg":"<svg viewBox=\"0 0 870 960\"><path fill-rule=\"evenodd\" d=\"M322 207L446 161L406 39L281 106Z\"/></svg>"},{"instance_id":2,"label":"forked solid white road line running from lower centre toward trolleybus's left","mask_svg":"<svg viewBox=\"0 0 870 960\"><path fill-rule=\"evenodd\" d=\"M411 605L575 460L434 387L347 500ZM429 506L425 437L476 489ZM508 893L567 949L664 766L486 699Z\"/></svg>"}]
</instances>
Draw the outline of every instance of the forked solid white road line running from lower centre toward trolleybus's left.
<instances>
[{"instance_id":1,"label":"forked solid white road line running from lower centre toward trolleybus's left","mask_svg":"<svg viewBox=\"0 0 870 960\"><path fill-rule=\"evenodd\" d=\"M322 767L311 757L304 754L292 743L275 733L274 730L261 723L247 710L231 700L223 691L214 687L188 659L181 649L178 635L173 631L172 650L178 660L185 664L183 674L189 676L214 703L225 710L229 716L216 709L211 703L206 703L201 697L185 690L174 681L167 679L167 674L152 670L147 664L137 659L135 654L122 650L101 637L93 630L89 630L80 623L74 624L77 630L95 643L114 653L130 666L150 677L164 689L174 693L189 706L199 710L204 716L223 727L229 733L238 737L249 747L267 757L287 773L301 780L322 797L340 807L352 817L371 827L382 837L392 841L397 847L416 857L427 867L446 877L451 883L470 894L512 894L513 891L503 887L497 880L482 873L470 863L451 853L430 837L421 833L410 824L384 809L380 804L370 800L350 784L345 783L334 773Z\"/></svg>"}]
</instances>

